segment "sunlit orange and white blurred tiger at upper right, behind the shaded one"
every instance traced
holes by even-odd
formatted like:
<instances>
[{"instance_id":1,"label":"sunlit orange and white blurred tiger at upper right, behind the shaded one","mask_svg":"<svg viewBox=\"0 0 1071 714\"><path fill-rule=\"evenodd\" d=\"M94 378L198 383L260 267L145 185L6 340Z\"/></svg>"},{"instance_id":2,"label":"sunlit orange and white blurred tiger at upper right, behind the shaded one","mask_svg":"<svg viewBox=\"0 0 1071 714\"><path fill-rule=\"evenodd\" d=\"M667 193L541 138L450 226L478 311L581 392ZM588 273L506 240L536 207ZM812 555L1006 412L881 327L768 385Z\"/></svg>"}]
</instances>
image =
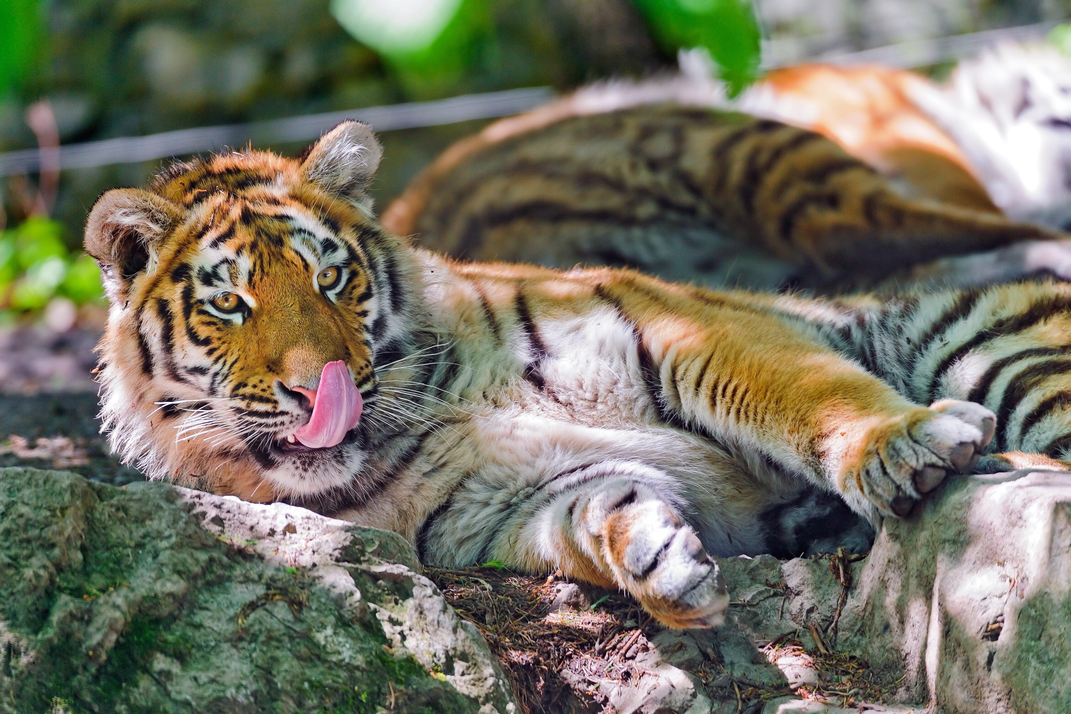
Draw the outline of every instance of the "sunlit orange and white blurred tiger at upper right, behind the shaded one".
<instances>
[{"instance_id":1,"label":"sunlit orange and white blurred tiger at upper right, behind the shaded one","mask_svg":"<svg viewBox=\"0 0 1071 714\"><path fill-rule=\"evenodd\" d=\"M1052 45L1000 43L944 83L808 63L773 70L736 101L719 90L716 104L819 132L917 195L1071 226L1071 57Z\"/></svg>"}]
</instances>

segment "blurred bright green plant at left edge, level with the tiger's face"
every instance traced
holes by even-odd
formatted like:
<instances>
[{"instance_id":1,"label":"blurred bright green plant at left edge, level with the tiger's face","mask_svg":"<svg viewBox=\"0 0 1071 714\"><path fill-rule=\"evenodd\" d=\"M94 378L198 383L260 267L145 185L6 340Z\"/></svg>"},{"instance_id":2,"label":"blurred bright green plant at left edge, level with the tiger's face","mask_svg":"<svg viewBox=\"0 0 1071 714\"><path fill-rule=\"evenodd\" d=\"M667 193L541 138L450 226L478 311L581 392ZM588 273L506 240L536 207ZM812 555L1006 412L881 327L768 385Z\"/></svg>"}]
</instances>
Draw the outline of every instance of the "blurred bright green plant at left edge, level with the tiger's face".
<instances>
[{"instance_id":1,"label":"blurred bright green plant at left edge, level with the tiger's face","mask_svg":"<svg viewBox=\"0 0 1071 714\"><path fill-rule=\"evenodd\" d=\"M101 271L85 253L71 254L63 226L30 216L0 233L0 306L36 310L55 297L84 305L104 297Z\"/></svg>"}]
</instances>

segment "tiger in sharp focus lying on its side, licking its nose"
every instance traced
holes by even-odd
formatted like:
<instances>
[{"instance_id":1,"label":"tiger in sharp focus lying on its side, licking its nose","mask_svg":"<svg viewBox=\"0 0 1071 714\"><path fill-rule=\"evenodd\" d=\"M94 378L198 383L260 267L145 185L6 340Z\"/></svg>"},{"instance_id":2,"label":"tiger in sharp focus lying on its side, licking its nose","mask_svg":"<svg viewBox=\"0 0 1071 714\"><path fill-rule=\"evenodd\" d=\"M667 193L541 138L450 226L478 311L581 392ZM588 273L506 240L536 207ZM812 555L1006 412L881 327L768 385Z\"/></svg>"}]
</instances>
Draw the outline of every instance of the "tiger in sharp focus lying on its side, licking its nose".
<instances>
[{"instance_id":1,"label":"tiger in sharp focus lying on its side, licking its nose","mask_svg":"<svg viewBox=\"0 0 1071 714\"><path fill-rule=\"evenodd\" d=\"M376 222L381 154L348 121L97 199L124 460L681 628L724 619L713 557L863 551L951 474L1068 466L1067 285L811 298L459 261Z\"/></svg>"}]
</instances>

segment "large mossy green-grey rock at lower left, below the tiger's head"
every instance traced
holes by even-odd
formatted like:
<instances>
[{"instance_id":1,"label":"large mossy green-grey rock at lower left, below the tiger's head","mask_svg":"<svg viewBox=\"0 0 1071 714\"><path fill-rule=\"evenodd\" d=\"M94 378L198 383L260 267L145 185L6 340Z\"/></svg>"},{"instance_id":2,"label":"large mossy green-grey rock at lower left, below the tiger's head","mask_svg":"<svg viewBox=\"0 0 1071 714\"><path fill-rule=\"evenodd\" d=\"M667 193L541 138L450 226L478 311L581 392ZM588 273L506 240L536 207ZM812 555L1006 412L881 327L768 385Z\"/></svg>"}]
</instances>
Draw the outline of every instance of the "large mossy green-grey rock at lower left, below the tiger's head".
<instances>
[{"instance_id":1,"label":"large mossy green-grey rock at lower left, below the tiger's head","mask_svg":"<svg viewBox=\"0 0 1071 714\"><path fill-rule=\"evenodd\" d=\"M515 712L399 536L0 470L0 712Z\"/></svg>"}]
</instances>

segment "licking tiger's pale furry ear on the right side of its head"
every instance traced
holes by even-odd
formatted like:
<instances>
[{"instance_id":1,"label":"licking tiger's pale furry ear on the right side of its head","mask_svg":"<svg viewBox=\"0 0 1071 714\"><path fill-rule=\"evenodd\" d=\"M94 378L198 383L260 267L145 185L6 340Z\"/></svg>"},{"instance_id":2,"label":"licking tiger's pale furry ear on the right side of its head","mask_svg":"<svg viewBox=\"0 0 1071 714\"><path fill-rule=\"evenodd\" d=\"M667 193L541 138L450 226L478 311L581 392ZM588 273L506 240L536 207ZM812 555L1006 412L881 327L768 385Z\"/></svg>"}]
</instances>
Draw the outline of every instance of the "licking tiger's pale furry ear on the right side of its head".
<instances>
[{"instance_id":1,"label":"licking tiger's pale furry ear on the right side of its head","mask_svg":"<svg viewBox=\"0 0 1071 714\"><path fill-rule=\"evenodd\" d=\"M301 169L305 179L330 194L371 208L368 183L383 157L372 127L344 121L312 146Z\"/></svg>"}]
</instances>

